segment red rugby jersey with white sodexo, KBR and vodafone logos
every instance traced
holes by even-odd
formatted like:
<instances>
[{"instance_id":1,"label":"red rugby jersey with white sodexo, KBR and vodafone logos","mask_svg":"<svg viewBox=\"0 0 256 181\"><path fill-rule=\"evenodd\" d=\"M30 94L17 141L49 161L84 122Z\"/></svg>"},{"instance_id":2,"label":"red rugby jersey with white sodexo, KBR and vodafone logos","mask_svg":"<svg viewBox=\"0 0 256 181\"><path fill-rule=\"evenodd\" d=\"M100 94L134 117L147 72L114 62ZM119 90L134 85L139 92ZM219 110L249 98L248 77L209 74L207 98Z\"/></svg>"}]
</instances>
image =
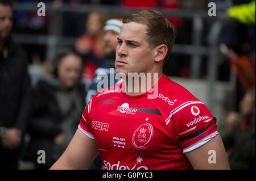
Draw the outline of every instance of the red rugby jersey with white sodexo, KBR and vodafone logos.
<instances>
[{"instance_id":1,"label":"red rugby jersey with white sodexo, KBR and vodafone logos","mask_svg":"<svg viewBox=\"0 0 256 181\"><path fill-rule=\"evenodd\" d=\"M79 129L96 140L105 169L193 169L185 153L218 134L216 117L166 75L158 94L129 96L123 83L98 92Z\"/></svg>"}]
</instances>

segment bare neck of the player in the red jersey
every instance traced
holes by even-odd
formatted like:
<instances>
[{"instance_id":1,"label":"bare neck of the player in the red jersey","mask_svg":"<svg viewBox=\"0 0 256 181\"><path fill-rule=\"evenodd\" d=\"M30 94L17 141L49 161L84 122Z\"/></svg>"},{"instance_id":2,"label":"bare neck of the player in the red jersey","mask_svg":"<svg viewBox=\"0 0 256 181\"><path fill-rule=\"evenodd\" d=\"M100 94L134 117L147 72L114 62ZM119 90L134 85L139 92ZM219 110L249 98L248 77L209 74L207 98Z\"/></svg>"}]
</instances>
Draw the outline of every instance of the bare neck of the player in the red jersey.
<instances>
[{"instance_id":1,"label":"bare neck of the player in the red jersey","mask_svg":"<svg viewBox=\"0 0 256 181\"><path fill-rule=\"evenodd\" d=\"M133 74L134 75L134 74ZM144 75L144 76L143 76ZM141 95L150 90L162 77L163 73L138 74L138 76L127 77L125 92L128 95Z\"/></svg>"}]
</instances>

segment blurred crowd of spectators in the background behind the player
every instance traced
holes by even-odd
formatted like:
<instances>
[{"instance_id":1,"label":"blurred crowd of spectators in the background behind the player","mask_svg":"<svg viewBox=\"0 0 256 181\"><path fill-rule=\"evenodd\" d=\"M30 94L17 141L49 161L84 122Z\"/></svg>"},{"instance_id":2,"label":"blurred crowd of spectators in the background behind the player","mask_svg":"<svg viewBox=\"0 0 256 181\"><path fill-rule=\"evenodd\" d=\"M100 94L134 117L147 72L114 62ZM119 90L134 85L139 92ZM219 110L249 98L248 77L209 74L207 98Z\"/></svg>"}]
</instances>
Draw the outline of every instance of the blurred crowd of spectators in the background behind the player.
<instances>
[{"instance_id":1,"label":"blurred crowd of spectators in the background behind the player","mask_svg":"<svg viewBox=\"0 0 256 181\"><path fill-rule=\"evenodd\" d=\"M13 1L26 5L40 1ZM220 43L228 47L218 64L218 80L236 74L236 106L225 121L221 135L232 169L255 169L255 1L238 0L47 0L45 3L71 8L79 5L115 5L127 9L207 11L208 2L217 4L234 22L221 33ZM254 7L254 9L252 8ZM13 11L10 1L0 0L0 168L49 169L67 147L80 122L86 103L97 93L98 73L114 68L115 46L125 14L92 11L62 15L60 36L75 37L71 47L60 47L46 60L46 45L14 43L12 33L48 35L51 14ZM191 44L189 19L167 17L176 34L176 43ZM210 23L204 22L204 37ZM209 44L205 38L204 45ZM28 65L39 57L43 73L31 77ZM235 56L234 56L235 55ZM235 58L234 58L235 57ZM190 56L172 54L163 72L189 78ZM207 70L203 61L201 70ZM200 78L207 77L201 71ZM118 82L119 80L117 80ZM114 82L114 83L117 83ZM46 151L46 163L38 163L38 150ZM101 169L97 157L90 169Z\"/></svg>"}]
</instances>

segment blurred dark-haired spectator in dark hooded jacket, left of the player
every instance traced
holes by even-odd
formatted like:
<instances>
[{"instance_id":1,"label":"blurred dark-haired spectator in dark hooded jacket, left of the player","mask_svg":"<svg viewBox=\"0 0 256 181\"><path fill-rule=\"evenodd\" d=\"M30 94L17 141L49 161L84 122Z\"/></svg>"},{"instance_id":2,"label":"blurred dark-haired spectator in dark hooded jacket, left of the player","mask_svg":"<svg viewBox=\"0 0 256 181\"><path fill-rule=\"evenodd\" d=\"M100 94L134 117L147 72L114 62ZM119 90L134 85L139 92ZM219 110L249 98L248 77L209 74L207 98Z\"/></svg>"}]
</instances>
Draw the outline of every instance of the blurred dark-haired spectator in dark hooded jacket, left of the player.
<instances>
[{"instance_id":1,"label":"blurred dark-haired spectator in dark hooded jacket, left of the player","mask_svg":"<svg viewBox=\"0 0 256 181\"><path fill-rule=\"evenodd\" d=\"M86 92L79 83L82 59L73 50L60 52L53 64L53 75L46 75L32 91L33 112L28 132L25 161L32 161L36 169L49 169L76 131L85 107ZM37 151L46 151L46 164L37 163Z\"/></svg>"}]
</instances>

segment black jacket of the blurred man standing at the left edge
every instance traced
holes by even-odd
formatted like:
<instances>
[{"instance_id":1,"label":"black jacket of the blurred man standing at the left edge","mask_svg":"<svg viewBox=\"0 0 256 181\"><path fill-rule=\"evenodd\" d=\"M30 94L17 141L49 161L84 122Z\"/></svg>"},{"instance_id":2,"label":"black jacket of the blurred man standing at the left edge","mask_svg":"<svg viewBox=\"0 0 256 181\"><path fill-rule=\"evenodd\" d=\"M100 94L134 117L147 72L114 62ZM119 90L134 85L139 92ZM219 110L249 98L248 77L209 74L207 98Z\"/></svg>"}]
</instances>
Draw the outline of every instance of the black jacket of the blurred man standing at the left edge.
<instances>
[{"instance_id":1,"label":"black jacket of the blurred man standing at the left edge","mask_svg":"<svg viewBox=\"0 0 256 181\"><path fill-rule=\"evenodd\" d=\"M30 111L30 77L27 57L8 39L0 52L0 127L26 132Z\"/></svg>"}]
</instances>

